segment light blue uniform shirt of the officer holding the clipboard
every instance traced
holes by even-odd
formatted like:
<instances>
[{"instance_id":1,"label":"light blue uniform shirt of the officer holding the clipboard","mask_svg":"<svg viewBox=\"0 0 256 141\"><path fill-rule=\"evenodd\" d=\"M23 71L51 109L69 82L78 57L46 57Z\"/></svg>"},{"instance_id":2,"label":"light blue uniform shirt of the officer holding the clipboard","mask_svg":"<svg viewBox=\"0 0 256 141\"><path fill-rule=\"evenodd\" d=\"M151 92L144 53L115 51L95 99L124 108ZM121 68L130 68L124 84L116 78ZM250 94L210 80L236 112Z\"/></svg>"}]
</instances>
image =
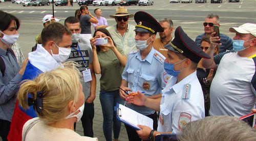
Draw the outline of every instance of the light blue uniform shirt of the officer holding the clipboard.
<instances>
[{"instance_id":1,"label":"light blue uniform shirt of the officer holding the clipboard","mask_svg":"<svg viewBox=\"0 0 256 141\"><path fill-rule=\"evenodd\" d=\"M196 71L177 82L172 77L163 89L157 131L179 133L189 122L204 117L204 97ZM190 89L190 91L186 91Z\"/></svg>"}]
</instances>

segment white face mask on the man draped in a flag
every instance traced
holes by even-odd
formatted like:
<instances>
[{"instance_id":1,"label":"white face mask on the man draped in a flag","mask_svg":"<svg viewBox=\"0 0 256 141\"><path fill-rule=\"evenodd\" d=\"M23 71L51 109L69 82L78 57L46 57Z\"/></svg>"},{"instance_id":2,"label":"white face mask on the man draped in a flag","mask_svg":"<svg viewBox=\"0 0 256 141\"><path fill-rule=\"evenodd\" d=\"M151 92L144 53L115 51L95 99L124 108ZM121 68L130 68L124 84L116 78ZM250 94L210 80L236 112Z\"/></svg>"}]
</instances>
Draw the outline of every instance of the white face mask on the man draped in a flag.
<instances>
[{"instance_id":1,"label":"white face mask on the man draped in a flag","mask_svg":"<svg viewBox=\"0 0 256 141\"><path fill-rule=\"evenodd\" d=\"M56 44L56 43L55 43ZM53 54L52 53L52 57L57 61L57 62L65 62L69 59L70 53L71 53L71 49L68 48L61 48L59 47L57 44L56 46L59 49L59 54ZM52 50L51 50L52 52Z\"/></svg>"}]
</instances>

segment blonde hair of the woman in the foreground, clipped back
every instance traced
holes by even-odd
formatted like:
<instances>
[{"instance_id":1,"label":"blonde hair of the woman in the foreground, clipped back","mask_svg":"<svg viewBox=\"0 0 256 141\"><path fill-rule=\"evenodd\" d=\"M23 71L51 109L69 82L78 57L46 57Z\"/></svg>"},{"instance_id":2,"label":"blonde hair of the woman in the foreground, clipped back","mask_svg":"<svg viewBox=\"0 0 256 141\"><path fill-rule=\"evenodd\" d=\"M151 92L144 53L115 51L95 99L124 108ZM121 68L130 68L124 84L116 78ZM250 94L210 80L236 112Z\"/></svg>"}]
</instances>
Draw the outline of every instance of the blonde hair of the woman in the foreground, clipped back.
<instances>
[{"instance_id":1,"label":"blonde hair of the woman in the foreground, clipped back","mask_svg":"<svg viewBox=\"0 0 256 141\"><path fill-rule=\"evenodd\" d=\"M76 103L79 96L80 73L75 62L64 63L50 72L42 73L34 80L24 80L18 91L18 102L28 109L28 95L36 99L42 91L42 111L36 113L46 124L65 119L70 101Z\"/></svg>"}]
</instances>

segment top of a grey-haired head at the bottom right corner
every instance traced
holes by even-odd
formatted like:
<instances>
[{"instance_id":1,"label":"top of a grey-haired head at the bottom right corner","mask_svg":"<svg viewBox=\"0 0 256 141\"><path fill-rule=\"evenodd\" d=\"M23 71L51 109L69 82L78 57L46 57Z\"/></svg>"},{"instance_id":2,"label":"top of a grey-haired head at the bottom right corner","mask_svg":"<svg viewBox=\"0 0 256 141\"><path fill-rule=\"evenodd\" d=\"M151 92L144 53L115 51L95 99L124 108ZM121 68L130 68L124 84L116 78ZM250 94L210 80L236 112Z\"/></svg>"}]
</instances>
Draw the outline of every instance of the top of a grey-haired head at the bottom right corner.
<instances>
[{"instance_id":1,"label":"top of a grey-haired head at the bottom right corner","mask_svg":"<svg viewBox=\"0 0 256 141\"><path fill-rule=\"evenodd\" d=\"M256 130L233 116L207 116L188 123L179 140L256 140ZM254 138L254 139L253 139Z\"/></svg>"}]
</instances>

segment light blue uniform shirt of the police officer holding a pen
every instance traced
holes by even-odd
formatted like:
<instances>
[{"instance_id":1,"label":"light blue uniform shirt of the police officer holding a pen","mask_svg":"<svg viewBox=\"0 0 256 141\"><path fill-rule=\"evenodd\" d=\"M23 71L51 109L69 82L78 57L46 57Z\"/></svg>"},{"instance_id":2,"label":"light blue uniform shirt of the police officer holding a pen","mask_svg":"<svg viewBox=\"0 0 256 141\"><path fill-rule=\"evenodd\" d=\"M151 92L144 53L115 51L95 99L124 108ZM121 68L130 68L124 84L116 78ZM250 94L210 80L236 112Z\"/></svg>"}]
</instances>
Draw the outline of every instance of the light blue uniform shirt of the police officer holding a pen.
<instances>
[{"instance_id":1,"label":"light blue uniform shirt of the police officer holding a pen","mask_svg":"<svg viewBox=\"0 0 256 141\"><path fill-rule=\"evenodd\" d=\"M144 60L141 59L140 51L133 51L123 70L122 79L129 82L128 87L132 89L131 91L144 91L146 97L158 95L169 79L163 67L164 59L165 57L154 48ZM155 112L144 106L135 106L126 102L125 104L144 115Z\"/></svg>"}]
</instances>

